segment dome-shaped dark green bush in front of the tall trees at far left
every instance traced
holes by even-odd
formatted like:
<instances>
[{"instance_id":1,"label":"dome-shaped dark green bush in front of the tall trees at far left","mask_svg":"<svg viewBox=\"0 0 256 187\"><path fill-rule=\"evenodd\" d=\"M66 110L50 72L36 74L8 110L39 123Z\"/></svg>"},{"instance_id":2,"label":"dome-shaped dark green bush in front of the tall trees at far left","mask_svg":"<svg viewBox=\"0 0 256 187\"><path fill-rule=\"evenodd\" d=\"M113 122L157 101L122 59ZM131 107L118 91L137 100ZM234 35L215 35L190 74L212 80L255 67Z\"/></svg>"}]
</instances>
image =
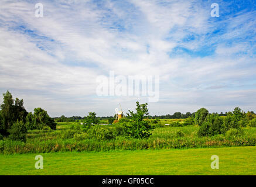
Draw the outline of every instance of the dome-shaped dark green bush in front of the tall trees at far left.
<instances>
[{"instance_id":1,"label":"dome-shaped dark green bush in front of the tall trees at far left","mask_svg":"<svg viewBox=\"0 0 256 187\"><path fill-rule=\"evenodd\" d=\"M26 142L27 129L22 121L17 121L13 123L11 129L9 130L9 133L9 138L11 140L20 140Z\"/></svg>"}]
</instances>

